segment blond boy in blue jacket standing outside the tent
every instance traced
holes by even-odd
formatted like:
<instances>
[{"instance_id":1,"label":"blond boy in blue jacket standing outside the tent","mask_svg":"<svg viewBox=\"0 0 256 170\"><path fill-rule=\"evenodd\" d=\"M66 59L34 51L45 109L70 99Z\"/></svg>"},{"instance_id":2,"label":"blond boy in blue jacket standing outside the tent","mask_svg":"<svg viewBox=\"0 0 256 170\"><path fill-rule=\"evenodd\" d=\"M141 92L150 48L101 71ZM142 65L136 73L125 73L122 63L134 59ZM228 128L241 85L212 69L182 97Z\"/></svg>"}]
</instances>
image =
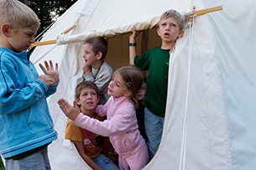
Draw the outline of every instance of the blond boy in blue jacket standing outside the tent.
<instances>
[{"instance_id":1,"label":"blond boy in blue jacket standing outside the tent","mask_svg":"<svg viewBox=\"0 0 256 170\"><path fill-rule=\"evenodd\" d=\"M58 64L39 64L27 49L39 18L17 0L0 0L0 153L6 169L50 169L47 146L57 138L46 97L56 91Z\"/></svg>"}]
</instances>

